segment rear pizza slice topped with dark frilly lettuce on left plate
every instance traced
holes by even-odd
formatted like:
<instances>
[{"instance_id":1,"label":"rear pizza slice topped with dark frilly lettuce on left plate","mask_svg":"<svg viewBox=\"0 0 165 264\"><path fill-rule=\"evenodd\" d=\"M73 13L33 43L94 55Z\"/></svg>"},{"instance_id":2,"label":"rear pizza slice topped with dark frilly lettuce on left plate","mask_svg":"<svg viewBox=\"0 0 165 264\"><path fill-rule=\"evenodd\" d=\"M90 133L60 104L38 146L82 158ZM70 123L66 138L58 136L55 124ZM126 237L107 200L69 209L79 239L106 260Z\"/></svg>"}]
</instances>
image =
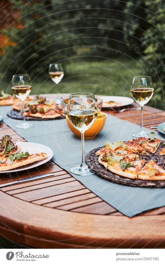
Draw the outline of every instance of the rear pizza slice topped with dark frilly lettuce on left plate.
<instances>
[{"instance_id":1,"label":"rear pizza slice topped with dark frilly lettuce on left plate","mask_svg":"<svg viewBox=\"0 0 165 264\"><path fill-rule=\"evenodd\" d=\"M17 146L11 136L5 135L0 139L0 160L7 154L13 154L21 151L21 146Z\"/></svg>"}]
</instances>

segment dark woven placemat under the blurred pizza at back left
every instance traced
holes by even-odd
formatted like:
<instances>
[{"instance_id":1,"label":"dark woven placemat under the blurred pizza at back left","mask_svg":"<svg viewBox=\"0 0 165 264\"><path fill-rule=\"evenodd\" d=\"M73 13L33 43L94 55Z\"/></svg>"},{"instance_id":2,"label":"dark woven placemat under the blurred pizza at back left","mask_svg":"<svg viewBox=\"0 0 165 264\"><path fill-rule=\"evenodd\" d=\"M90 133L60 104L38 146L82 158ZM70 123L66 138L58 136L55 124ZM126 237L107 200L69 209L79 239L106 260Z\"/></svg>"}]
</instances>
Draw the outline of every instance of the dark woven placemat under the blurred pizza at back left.
<instances>
[{"instance_id":1,"label":"dark woven placemat under the blurred pizza at back left","mask_svg":"<svg viewBox=\"0 0 165 264\"><path fill-rule=\"evenodd\" d=\"M54 119L63 119L65 118L65 116L63 116L62 114L60 114L61 116L56 117L56 118L40 118L40 117L32 117L32 116L26 116L25 119L26 120L33 120L33 121L43 121L43 120L54 120ZM10 112L7 113L8 117L11 117L13 119L19 119L19 120L23 120L23 116L21 111L17 111L17 110L11 110Z\"/></svg>"}]
</instances>

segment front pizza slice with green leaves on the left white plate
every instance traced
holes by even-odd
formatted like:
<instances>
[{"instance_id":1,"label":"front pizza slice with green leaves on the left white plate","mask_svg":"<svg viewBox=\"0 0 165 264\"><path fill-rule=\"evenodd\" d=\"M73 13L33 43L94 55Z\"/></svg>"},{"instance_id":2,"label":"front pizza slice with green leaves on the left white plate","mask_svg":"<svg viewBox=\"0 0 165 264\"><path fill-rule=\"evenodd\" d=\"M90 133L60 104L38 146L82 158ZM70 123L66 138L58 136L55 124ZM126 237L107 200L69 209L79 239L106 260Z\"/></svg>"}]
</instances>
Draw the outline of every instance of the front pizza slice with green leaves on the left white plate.
<instances>
[{"instance_id":1,"label":"front pizza slice with green leaves on the left white plate","mask_svg":"<svg viewBox=\"0 0 165 264\"><path fill-rule=\"evenodd\" d=\"M17 154L8 154L0 161L0 171L7 171L33 162L45 160L48 155L44 152L29 154L28 152L19 152Z\"/></svg>"}]
</instances>

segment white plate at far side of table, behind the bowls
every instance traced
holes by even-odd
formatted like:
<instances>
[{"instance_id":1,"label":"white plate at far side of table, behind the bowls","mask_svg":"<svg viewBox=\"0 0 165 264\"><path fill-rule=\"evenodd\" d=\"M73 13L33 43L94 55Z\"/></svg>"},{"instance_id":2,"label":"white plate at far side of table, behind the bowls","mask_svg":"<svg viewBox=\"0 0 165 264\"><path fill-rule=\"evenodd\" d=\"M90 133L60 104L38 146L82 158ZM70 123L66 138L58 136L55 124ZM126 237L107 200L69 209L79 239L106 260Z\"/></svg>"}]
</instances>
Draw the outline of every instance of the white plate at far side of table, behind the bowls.
<instances>
[{"instance_id":1,"label":"white plate at far side of table, behind the bowls","mask_svg":"<svg viewBox=\"0 0 165 264\"><path fill-rule=\"evenodd\" d=\"M104 106L104 102L109 102L109 101L114 101L116 103L120 103L119 106L112 106L112 107L121 107L121 106L126 106L126 105L134 103L134 100L132 98L124 97L124 96L103 96L103 95L98 95L98 96L103 101L102 102L102 109L108 108L107 106Z\"/></svg>"}]
</instances>

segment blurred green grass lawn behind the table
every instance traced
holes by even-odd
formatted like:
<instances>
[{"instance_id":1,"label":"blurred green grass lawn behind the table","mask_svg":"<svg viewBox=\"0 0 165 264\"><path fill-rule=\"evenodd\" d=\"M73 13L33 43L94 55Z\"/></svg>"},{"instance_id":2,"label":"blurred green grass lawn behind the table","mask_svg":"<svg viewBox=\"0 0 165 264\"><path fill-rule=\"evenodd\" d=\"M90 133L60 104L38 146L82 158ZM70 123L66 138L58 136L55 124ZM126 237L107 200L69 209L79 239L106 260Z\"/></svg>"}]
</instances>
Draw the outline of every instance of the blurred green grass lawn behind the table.
<instances>
[{"instance_id":1,"label":"blurred green grass lawn behind the table","mask_svg":"<svg viewBox=\"0 0 165 264\"><path fill-rule=\"evenodd\" d=\"M140 74L140 66L132 59L99 59L78 57L63 62L64 78L56 85L49 75L32 81L32 94L72 93L79 91L102 95L131 96L130 84L134 75ZM109 68L109 69L106 69ZM6 78L7 79L7 78ZM1 89L11 93L11 80L3 79Z\"/></svg>"}]
</instances>

